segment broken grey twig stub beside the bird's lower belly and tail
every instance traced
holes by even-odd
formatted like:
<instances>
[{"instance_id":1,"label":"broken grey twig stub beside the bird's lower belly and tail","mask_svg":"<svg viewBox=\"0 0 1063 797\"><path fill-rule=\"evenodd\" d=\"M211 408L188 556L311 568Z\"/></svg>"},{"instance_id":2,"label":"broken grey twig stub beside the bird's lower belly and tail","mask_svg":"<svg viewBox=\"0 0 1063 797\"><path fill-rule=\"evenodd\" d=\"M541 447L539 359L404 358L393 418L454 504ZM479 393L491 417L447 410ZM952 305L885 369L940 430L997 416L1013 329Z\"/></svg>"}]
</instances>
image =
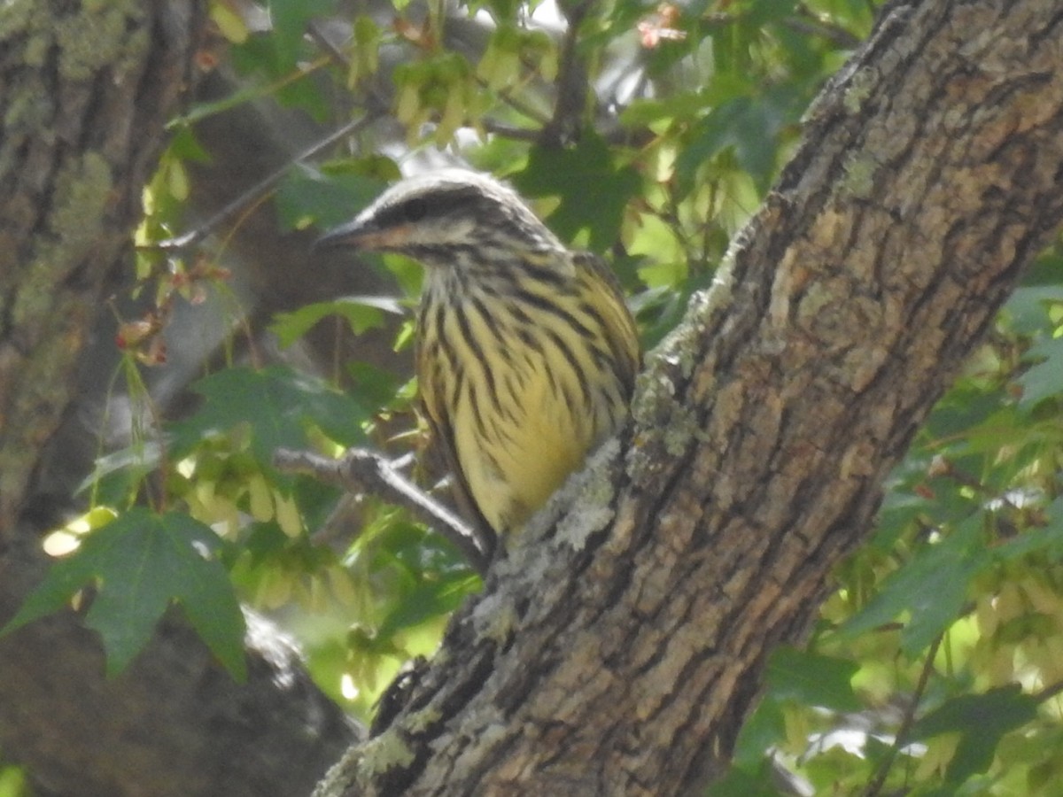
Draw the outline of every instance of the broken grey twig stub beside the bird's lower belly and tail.
<instances>
[{"instance_id":1,"label":"broken grey twig stub beside the bird's lower belly and tail","mask_svg":"<svg viewBox=\"0 0 1063 797\"><path fill-rule=\"evenodd\" d=\"M403 507L450 540L482 576L487 573L490 552L475 531L446 507L434 501L400 475L386 458L365 448L350 448L339 459L303 451L279 448L273 464L286 473L306 473L352 493L371 493Z\"/></svg>"}]
</instances>

